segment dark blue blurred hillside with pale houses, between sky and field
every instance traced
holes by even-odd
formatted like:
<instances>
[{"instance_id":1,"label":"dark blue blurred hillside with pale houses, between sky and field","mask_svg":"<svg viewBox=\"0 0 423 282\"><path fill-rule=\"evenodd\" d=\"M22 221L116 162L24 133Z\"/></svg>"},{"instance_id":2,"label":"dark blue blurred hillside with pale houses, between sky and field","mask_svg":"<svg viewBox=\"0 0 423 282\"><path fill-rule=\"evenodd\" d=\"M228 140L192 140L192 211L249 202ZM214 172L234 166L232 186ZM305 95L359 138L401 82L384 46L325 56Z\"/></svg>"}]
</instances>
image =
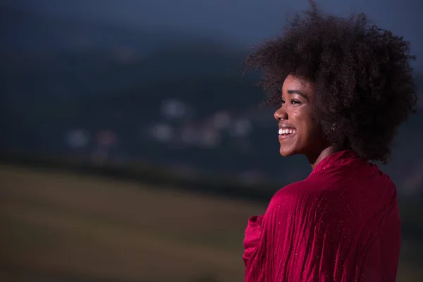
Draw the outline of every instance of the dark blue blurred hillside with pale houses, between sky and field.
<instances>
[{"instance_id":1,"label":"dark blue blurred hillside with pale houses, between sky and field","mask_svg":"<svg viewBox=\"0 0 423 282\"><path fill-rule=\"evenodd\" d=\"M264 94L240 69L247 50L7 6L0 14L4 152L142 161L275 189L309 173L301 157L278 156L272 109L259 108ZM401 128L384 167L402 195L423 197L422 128L422 114Z\"/></svg>"}]
</instances>

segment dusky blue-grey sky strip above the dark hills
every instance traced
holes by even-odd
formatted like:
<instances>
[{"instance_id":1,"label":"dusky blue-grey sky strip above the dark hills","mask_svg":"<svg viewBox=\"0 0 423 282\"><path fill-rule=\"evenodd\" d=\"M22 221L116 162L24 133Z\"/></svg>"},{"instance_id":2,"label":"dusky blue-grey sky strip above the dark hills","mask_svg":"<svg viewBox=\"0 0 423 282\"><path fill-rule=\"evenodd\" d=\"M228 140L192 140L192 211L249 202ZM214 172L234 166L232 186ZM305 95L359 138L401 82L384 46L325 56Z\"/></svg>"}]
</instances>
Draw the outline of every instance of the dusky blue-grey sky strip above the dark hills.
<instances>
[{"instance_id":1,"label":"dusky blue-grey sky strip above the dark hills","mask_svg":"<svg viewBox=\"0 0 423 282\"><path fill-rule=\"evenodd\" d=\"M2 0L14 6L59 16L82 16L130 27L172 28L212 35L231 44L249 47L277 35L287 13L308 7L307 0ZM423 1L320 0L330 13L346 16L364 11L380 27L392 30L423 56ZM416 67L423 70L423 60Z\"/></svg>"}]
</instances>

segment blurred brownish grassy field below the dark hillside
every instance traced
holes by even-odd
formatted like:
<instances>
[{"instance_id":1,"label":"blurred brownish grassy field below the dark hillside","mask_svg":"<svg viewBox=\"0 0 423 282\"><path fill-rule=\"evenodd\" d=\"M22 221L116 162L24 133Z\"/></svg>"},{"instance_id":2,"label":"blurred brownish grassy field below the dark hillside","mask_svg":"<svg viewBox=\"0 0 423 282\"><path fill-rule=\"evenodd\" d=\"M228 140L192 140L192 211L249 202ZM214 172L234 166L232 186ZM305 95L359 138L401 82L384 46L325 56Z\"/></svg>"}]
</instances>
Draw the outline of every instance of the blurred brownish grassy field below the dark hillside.
<instances>
[{"instance_id":1,"label":"blurred brownish grassy field below the dark hillside","mask_svg":"<svg viewBox=\"0 0 423 282\"><path fill-rule=\"evenodd\" d=\"M265 209L1 164L0 181L0 281L243 281L245 224ZM403 258L398 281L423 270Z\"/></svg>"}]
</instances>

